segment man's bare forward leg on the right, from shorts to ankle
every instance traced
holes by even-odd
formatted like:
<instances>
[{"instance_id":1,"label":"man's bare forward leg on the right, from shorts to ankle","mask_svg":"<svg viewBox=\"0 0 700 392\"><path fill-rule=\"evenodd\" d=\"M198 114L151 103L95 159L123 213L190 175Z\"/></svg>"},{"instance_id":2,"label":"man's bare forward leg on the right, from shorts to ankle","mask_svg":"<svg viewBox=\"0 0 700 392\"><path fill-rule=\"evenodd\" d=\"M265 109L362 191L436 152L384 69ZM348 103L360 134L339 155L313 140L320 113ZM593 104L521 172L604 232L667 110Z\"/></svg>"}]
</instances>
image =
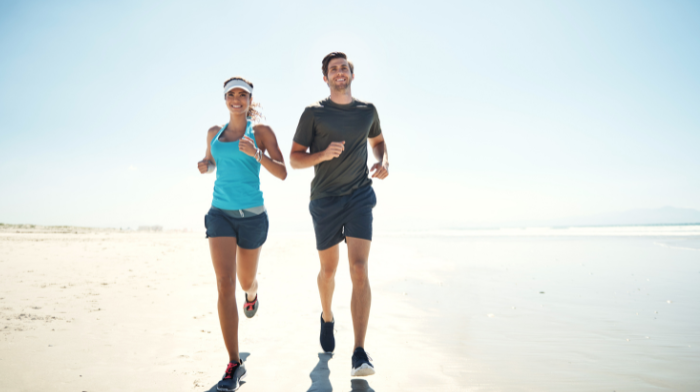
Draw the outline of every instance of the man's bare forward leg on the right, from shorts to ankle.
<instances>
[{"instance_id":1,"label":"man's bare forward leg on the right, from shorts to ankle","mask_svg":"<svg viewBox=\"0 0 700 392\"><path fill-rule=\"evenodd\" d=\"M365 346L365 335L372 306L372 290L369 287L368 259L372 241L347 237L350 279L352 280L352 326L355 331L355 347Z\"/></svg>"}]
</instances>

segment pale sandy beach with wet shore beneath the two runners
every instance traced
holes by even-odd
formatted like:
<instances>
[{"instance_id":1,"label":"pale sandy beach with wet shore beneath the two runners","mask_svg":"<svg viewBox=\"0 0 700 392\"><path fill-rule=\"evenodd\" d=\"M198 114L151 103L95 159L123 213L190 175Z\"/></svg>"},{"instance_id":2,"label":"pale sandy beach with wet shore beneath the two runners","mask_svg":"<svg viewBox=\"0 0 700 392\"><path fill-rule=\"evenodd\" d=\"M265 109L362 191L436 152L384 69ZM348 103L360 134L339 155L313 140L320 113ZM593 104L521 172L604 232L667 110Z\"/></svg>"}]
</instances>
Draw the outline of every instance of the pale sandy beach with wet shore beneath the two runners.
<instances>
[{"instance_id":1,"label":"pale sandy beach with wet shore beneath the two runners","mask_svg":"<svg viewBox=\"0 0 700 392\"><path fill-rule=\"evenodd\" d=\"M203 233L0 227L1 391L215 390ZM270 233L241 391L700 390L698 226L379 233L355 379L347 268L319 354L313 244Z\"/></svg>"}]
</instances>

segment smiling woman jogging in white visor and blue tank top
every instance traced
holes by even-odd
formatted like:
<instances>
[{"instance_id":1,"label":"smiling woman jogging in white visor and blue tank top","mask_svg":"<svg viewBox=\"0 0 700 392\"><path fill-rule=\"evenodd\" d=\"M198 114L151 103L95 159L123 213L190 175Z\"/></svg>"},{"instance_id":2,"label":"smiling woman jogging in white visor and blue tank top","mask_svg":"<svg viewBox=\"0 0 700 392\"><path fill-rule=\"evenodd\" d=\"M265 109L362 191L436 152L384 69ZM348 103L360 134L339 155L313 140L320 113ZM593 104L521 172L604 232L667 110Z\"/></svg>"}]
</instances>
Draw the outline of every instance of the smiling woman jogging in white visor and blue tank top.
<instances>
[{"instance_id":1,"label":"smiling woman jogging in white visor and blue tank top","mask_svg":"<svg viewBox=\"0 0 700 392\"><path fill-rule=\"evenodd\" d=\"M260 166L277 178L287 177L284 158L272 129L260 120L253 103L253 83L234 77L224 83L224 99L230 113L228 124L207 133L207 153L197 164L200 173L217 168L214 199L204 224L219 289L219 322L229 355L218 391L235 391L246 370L238 356L236 275L245 291L243 312L253 317L258 310L260 249L267 239L268 219L260 191ZM269 154L269 155L266 155Z\"/></svg>"}]
</instances>

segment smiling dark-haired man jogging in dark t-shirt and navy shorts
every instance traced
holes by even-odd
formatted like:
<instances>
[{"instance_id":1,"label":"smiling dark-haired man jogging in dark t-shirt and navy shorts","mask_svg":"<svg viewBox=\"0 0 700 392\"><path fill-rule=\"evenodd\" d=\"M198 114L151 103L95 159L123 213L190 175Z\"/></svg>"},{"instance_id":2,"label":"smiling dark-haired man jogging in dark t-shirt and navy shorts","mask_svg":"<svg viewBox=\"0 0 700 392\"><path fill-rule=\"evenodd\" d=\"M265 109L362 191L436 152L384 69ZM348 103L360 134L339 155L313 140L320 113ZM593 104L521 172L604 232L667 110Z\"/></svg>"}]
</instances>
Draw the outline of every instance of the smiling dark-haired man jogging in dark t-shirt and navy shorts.
<instances>
[{"instance_id":1,"label":"smiling dark-haired man jogging in dark t-shirt and navy shorts","mask_svg":"<svg viewBox=\"0 0 700 392\"><path fill-rule=\"evenodd\" d=\"M350 308L355 348L351 375L369 376L374 374L374 366L364 350L372 302L367 261L372 243L372 208L377 203L369 174L372 178L386 178L389 158L374 105L352 97L353 64L341 52L328 54L322 64L323 81L331 95L304 110L290 161L295 169L314 167L309 210L321 259L321 347L326 352L335 348L331 303L338 244L344 239L353 287ZM378 160L371 170L367 169L367 141Z\"/></svg>"}]
</instances>

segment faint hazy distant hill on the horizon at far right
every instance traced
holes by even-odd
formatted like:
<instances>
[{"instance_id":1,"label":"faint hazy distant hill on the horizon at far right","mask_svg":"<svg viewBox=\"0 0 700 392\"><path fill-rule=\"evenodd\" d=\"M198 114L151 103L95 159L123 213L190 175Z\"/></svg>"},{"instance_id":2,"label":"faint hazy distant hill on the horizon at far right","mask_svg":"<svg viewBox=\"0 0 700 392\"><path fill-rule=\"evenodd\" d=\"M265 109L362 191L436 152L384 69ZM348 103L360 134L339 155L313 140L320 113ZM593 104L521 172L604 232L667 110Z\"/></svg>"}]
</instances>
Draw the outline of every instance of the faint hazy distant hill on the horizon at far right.
<instances>
[{"instance_id":1,"label":"faint hazy distant hill on the horizon at far right","mask_svg":"<svg viewBox=\"0 0 700 392\"><path fill-rule=\"evenodd\" d=\"M585 217L546 221L512 222L513 226L638 226L700 224L700 211L690 208L662 207L629 210Z\"/></svg>"}]
</instances>

